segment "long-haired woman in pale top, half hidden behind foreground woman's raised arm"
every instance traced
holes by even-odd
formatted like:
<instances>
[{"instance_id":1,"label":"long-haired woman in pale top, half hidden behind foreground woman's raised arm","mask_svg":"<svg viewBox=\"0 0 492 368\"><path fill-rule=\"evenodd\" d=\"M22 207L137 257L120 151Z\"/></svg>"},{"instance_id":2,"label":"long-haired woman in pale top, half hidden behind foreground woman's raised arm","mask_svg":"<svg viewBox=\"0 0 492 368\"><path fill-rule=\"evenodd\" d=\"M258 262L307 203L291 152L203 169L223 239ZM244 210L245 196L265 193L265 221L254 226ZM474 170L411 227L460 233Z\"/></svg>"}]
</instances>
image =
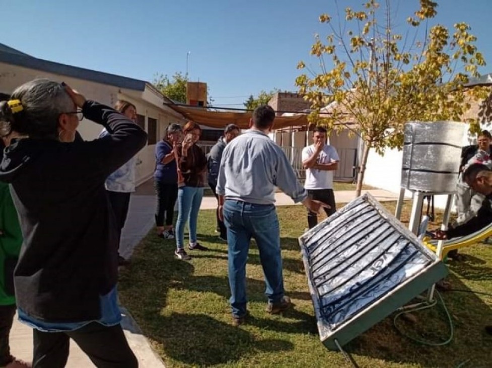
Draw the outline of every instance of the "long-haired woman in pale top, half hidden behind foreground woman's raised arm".
<instances>
[{"instance_id":1,"label":"long-haired woman in pale top, half hidden behind foreground woman's raised arm","mask_svg":"<svg viewBox=\"0 0 492 368\"><path fill-rule=\"evenodd\" d=\"M126 116L132 122L136 122L136 107L125 100L118 100L114 105L114 109ZM108 135L108 131L104 128L99 135L99 138ZM106 191L108 192L109 202L116 217L116 225L119 229L118 242L118 265L124 266L129 262L119 253L119 244L121 241L121 231L125 226L126 217L128 216L128 208L130 206L130 195L135 192L135 156L126 161L118 169L112 172L105 182Z\"/></svg>"}]
</instances>

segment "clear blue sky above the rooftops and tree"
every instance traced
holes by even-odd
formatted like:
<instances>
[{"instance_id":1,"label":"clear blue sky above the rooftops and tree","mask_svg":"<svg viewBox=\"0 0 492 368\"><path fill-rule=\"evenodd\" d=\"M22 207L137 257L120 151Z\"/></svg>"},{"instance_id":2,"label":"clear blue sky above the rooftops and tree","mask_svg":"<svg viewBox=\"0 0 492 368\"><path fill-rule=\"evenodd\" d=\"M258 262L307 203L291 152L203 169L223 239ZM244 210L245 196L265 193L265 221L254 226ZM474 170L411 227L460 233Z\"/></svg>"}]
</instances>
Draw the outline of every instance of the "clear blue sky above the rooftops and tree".
<instances>
[{"instance_id":1,"label":"clear blue sky above the rooftops and tree","mask_svg":"<svg viewBox=\"0 0 492 368\"><path fill-rule=\"evenodd\" d=\"M390 0L401 31L417 0ZM360 8L362 0L339 0ZM492 72L489 0L441 0L434 22L471 25ZM242 108L247 96L274 87L296 90L296 65L316 69L309 50L333 0L25 0L2 6L2 43L32 56L152 81L186 71L209 86L215 106ZM239 104L239 105L238 105Z\"/></svg>"}]
</instances>

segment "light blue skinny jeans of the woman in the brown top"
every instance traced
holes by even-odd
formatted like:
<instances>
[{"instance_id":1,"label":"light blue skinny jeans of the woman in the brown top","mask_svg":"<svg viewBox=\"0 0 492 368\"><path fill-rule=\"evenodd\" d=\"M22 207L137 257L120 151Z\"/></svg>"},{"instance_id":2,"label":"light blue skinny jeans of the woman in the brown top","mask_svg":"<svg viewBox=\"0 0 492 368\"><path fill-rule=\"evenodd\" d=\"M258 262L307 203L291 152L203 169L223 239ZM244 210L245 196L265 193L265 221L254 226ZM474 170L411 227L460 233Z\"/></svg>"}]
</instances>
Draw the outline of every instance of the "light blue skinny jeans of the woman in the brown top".
<instances>
[{"instance_id":1,"label":"light blue skinny jeans of the woman in the brown top","mask_svg":"<svg viewBox=\"0 0 492 368\"><path fill-rule=\"evenodd\" d=\"M176 246L184 248L184 226L188 221L190 243L196 242L196 221L200 210L203 188L181 187L178 189L178 219L176 220Z\"/></svg>"}]
</instances>

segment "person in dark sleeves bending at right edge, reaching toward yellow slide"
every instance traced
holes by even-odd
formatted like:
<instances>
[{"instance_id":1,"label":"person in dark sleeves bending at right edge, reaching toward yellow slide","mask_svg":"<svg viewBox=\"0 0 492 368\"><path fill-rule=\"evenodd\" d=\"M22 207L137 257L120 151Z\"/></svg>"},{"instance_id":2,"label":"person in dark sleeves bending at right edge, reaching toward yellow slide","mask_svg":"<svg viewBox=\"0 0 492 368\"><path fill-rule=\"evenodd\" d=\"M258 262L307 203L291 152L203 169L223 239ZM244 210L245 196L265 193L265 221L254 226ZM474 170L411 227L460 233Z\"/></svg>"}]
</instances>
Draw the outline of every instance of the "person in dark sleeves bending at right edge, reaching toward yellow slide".
<instances>
[{"instance_id":1,"label":"person in dark sleeves bending at right edge, reaching toward yellow slide","mask_svg":"<svg viewBox=\"0 0 492 368\"><path fill-rule=\"evenodd\" d=\"M451 239L478 231L492 223L492 171L481 163L473 163L463 173L463 179L475 192L485 196L476 216L462 225L448 230L437 230L434 239Z\"/></svg>"}]
</instances>

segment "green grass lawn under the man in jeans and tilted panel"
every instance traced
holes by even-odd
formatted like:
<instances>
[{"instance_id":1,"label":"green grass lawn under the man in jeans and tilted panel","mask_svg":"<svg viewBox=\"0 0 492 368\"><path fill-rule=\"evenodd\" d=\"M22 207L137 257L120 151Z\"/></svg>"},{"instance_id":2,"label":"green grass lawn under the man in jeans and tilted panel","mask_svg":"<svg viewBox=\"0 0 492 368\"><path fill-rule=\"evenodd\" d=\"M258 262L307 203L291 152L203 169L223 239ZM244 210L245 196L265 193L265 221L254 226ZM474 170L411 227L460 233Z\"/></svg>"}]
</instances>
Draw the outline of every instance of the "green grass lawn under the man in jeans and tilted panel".
<instances>
[{"instance_id":1,"label":"green grass lawn under the man in jeans and tilted panel","mask_svg":"<svg viewBox=\"0 0 492 368\"><path fill-rule=\"evenodd\" d=\"M395 204L386 203L391 211ZM408 221L409 203L402 221ZM264 312L265 297L258 250L250 249L247 282L251 317L231 325L228 304L227 245L215 234L215 212L199 214L199 241L207 252L190 252L190 262L177 260L174 241L152 231L135 249L132 264L120 275L120 300L149 338L167 367L286 366L349 367L342 354L320 342L297 238L306 212L301 206L278 208L286 293L294 307L284 315ZM455 289L492 293L492 249L478 244L462 250L466 260L449 262L448 281ZM492 366L492 298L473 293L443 293L454 324L449 345L424 346L402 336L390 316L358 336L345 348L361 367ZM414 313L416 321L400 320L411 336L444 341L449 328L441 308ZM470 359L470 360L468 360ZM468 360L468 361L467 361Z\"/></svg>"}]
</instances>

